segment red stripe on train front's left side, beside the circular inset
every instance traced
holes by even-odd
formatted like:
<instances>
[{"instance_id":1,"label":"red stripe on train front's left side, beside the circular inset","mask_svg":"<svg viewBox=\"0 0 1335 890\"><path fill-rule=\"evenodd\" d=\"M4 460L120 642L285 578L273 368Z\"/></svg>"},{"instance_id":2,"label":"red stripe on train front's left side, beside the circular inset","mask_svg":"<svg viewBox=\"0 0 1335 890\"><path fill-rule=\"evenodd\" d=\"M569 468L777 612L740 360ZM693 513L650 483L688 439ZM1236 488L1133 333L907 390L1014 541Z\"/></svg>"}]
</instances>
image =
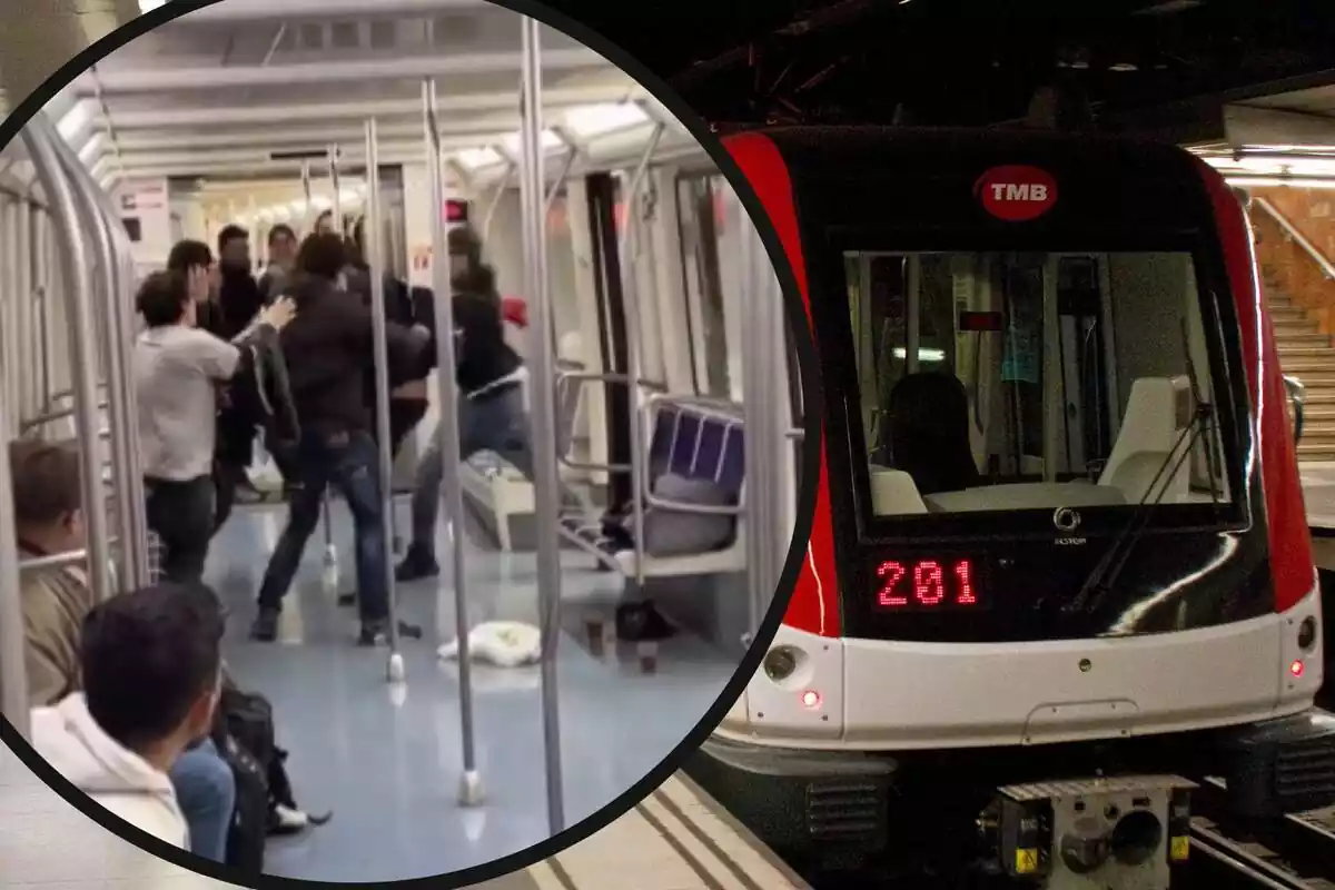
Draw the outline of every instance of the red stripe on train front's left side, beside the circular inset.
<instances>
[{"instance_id":1,"label":"red stripe on train front's left side, beside the circular inset","mask_svg":"<svg viewBox=\"0 0 1335 890\"><path fill-rule=\"evenodd\" d=\"M797 288L802 294L806 320L810 323L812 306L806 288L806 262L793 207L793 181L784 157L769 137L761 133L742 133L724 140L725 148L741 167L742 173L760 197L765 213L778 232L784 254L793 267ZM818 348L818 347L817 347ZM812 368L804 368L812 374ZM818 378L817 378L818 379ZM777 592L777 591L776 591ZM825 475L825 432L821 426L821 471L816 490L816 515L812 518L812 536L808 559L797 576L797 586L784 623L821 636L838 636L838 578L834 572L834 531L830 523L829 480Z\"/></svg>"}]
</instances>

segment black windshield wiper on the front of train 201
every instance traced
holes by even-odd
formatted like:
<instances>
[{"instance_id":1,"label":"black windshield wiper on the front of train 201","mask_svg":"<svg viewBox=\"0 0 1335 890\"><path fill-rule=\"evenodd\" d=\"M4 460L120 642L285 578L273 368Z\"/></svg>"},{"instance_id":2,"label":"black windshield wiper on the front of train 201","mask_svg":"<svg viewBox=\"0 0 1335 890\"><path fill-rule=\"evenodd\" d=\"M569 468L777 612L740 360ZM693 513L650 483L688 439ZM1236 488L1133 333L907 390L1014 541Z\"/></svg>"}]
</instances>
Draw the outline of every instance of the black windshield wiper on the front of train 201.
<instances>
[{"instance_id":1,"label":"black windshield wiper on the front of train 201","mask_svg":"<svg viewBox=\"0 0 1335 890\"><path fill-rule=\"evenodd\" d=\"M1183 319L1183 346L1187 347L1187 322ZM1189 391L1192 398L1192 416L1187 426L1177 435L1177 440L1173 443L1172 448L1168 450L1168 456L1164 462L1159 464L1159 471L1155 472L1149 484L1145 486L1145 492L1141 495L1140 502L1136 504L1135 511L1131 514L1131 519L1127 526L1117 534L1112 544L1099 559L1099 563L1089 572L1080 590L1076 595L1063 607L1064 611L1084 610L1088 611L1091 607L1097 606L1099 600L1103 599L1117 583L1117 578L1121 575L1121 570L1125 567L1128 559L1131 558L1131 551L1135 550L1136 544L1144 536L1145 530L1149 527L1149 519L1155 514L1155 508L1163 502L1164 495L1172 486L1172 480L1177 476L1181 470L1181 464L1191 458L1192 448L1196 447L1196 442L1200 439L1202 434L1206 432L1211 420L1214 419L1214 406L1207 403L1202 398L1202 390L1199 380L1196 378L1196 367L1191 360L1189 348L1187 352L1187 378L1189 383ZM1183 443L1185 442L1185 448ZM1179 454L1180 450L1180 454ZM1210 456L1211 443L1206 442L1206 467L1210 474L1210 494L1215 506L1219 504L1219 495L1215 484L1215 467L1214 460ZM1164 479L1164 474L1167 479ZM1163 479L1163 484L1160 484ZM1159 487L1157 494L1155 487ZM1153 495L1151 498L1151 495ZM1092 602L1087 602L1091 600Z\"/></svg>"}]
</instances>

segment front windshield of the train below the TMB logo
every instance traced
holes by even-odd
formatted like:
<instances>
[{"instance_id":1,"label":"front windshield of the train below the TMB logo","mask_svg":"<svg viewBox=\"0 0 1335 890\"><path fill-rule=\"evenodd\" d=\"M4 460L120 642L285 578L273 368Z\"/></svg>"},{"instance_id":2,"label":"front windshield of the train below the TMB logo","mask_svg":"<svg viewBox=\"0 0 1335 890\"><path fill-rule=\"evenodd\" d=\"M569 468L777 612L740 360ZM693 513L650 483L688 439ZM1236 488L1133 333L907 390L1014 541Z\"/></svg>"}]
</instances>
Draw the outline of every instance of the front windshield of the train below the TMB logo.
<instances>
[{"instance_id":1,"label":"front windshield of the train below the TMB logo","mask_svg":"<svg viewBox=\"0 0 1335 890\"><path fill-rule=\"evenodd\" d=\"M1228 500L1218 418L1196 423L1214 396L1189 254L846 252L844 271L874 514Z\"/></svg>"}]
</instances>

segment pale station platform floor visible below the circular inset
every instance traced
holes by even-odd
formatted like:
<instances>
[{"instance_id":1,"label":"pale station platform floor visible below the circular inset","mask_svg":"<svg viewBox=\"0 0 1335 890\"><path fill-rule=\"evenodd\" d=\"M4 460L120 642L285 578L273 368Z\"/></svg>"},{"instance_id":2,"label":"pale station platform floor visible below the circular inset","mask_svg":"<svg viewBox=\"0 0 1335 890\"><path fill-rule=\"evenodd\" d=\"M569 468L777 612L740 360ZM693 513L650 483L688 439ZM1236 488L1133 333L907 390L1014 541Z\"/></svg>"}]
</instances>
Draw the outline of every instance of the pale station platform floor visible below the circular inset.
<instances>
[{"instance_id":1,"label":"pale station platform floor visible below the circular inset","mask_svg":"<svg viewBox=\"0 0 1335 890\"><path fill-rule=\"evenodd\" d=\"M103 830L0 745L0 886L214 890L232 885L163 862ZM474 889L626 890L629 886L810 890L684 775L672 777L622 818L566 851Z\"/></svg>"}]
</instances>

